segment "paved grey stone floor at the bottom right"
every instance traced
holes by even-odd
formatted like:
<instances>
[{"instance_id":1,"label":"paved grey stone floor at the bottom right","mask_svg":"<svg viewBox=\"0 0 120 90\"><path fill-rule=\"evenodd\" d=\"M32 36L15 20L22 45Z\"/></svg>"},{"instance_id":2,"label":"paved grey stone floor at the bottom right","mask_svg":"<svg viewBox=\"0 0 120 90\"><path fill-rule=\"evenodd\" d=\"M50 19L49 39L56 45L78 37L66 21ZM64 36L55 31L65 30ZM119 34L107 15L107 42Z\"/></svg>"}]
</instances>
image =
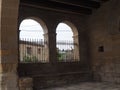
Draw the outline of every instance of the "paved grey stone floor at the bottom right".
<instances>
[{"instance_id":1,"label":"paved grey stone floor at the bottom right","mask_svg":"<svg viewBox=\"0 0 120 90\"><path fill-rule=\"evenodd\" d=\"M120 84L85 82L69 86L61 86L42 90L120 90Z\"/></svg>"}]
</instances>

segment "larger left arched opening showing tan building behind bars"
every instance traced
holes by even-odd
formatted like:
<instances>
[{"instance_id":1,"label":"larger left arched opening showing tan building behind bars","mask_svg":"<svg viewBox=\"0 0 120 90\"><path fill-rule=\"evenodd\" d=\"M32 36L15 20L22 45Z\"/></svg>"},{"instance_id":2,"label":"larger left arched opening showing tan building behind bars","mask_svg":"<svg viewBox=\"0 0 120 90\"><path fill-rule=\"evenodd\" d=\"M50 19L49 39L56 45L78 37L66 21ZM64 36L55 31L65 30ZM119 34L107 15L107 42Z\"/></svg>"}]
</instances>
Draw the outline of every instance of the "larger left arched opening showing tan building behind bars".
<instances>
[{"instance_id":1,"label":"larger left arched opening showing tan building behind bars","mask_svg":"<svg viewBox=\"0 0 120 90\"><path fill-rule=\"evenodd\" d=\"M19 59L24 63L48 62L47 28L41 20L24 19L19 27Z\"/></svg>"}]
</instances>

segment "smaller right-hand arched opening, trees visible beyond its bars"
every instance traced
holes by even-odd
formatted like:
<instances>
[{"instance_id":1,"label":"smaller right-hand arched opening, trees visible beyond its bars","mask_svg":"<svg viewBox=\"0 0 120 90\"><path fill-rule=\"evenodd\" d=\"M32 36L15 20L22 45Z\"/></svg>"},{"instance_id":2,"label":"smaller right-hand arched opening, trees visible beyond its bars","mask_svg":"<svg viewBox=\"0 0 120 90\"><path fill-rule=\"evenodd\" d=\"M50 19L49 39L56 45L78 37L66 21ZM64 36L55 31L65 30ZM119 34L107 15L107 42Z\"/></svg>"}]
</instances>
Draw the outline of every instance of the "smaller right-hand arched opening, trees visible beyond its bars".
<instances>
[{"instance_id":1,"label":"smaller right-hand arched opening, trees visible beyond its bars","mask_svg":"<svg viewBox=\"0 0 120 90\"><path fill-rule=\"evenodd\" d=\"M61 22L56 28L57 59L62 62L79 61L79 40L75 26L68 22Z\"/></svg>"}]
</instances>

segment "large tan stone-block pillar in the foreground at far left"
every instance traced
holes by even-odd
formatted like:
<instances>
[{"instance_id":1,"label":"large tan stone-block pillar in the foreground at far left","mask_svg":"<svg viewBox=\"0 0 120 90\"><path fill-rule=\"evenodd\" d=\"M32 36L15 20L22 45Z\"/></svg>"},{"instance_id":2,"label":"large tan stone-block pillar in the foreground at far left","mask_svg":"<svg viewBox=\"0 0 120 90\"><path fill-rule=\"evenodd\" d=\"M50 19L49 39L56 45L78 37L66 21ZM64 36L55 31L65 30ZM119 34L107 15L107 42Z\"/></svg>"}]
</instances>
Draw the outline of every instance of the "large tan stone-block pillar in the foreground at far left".
<instances>
[{"instance_id":1,"label":"large tan stone-block pillar in the foreground at far left","mask_svg":"<svg viewBox=\"0 0 120 90\"><path fill-rule=\"evenodd\" d=\"M0 0L0 90L19 90L18 6L19 0Z\"/></svg>"}]
</instances>

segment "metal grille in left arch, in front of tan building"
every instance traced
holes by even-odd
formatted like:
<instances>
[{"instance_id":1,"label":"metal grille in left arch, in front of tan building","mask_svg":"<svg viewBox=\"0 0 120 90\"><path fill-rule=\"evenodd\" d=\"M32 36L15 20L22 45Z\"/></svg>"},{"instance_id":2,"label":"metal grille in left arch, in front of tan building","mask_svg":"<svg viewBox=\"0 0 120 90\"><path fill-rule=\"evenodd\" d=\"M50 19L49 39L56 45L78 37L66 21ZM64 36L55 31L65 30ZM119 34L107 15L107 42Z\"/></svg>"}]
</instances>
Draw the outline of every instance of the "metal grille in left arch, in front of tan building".
<instances>
[{"instance_id":1,"label":"metal grille in left arch, in front of tan building","mask_svg":"<svg viewBox=\"0 0 120 90\"><path fill-rule=\"evenodd\" d=\"M20 62L36 63L48 62L46 42L39 39L21 39L19 41Z\"/></svg>"}]
</instances>

